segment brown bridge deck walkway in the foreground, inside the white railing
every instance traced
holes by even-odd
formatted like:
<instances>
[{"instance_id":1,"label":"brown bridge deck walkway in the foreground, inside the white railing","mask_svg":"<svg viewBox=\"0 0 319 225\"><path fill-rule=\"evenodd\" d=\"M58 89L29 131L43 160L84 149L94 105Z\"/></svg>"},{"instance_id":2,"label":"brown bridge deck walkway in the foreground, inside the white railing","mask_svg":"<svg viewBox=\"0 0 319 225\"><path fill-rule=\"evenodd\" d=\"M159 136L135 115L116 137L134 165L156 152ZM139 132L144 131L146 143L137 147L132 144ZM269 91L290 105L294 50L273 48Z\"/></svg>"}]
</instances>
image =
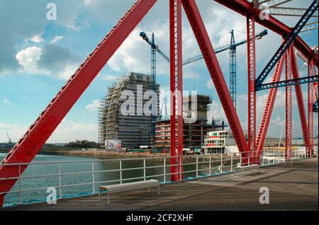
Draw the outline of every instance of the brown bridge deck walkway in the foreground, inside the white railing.
<instances>
[{"instance_id":1,"label":"brown bridge deck walkway in the foreground, inside the white railing","mask_svg":"<svg viewBox=\"0 0 319 225\"><path fill-rule=\"evenodd\" d=\"M259 204L262 187L269 188L269 204ZM110 196L111 204L94 195L9 210L318 210L318 158L162 185L160 195L155 189Z\"/></svg>"}]
</instances>

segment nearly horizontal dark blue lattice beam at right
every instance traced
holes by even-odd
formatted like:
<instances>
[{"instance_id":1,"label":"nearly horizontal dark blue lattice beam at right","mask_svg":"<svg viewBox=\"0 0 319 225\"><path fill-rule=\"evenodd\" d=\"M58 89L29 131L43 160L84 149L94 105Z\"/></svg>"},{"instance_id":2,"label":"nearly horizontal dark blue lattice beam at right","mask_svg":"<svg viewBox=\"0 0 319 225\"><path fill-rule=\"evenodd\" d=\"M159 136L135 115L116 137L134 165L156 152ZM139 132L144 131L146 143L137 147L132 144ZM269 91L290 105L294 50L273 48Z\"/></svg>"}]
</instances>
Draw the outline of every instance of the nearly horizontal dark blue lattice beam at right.
<instances>
[{"instance_id":1,"label":"nearly horizontal dark blue lattice beam at right","mask_svg":"<svg viewBox=\"0 0 319 225\"><path fill-rule=\"evenodd\" d=\"M301 77L298 79L291 79L287 81L278 81L278 82L272 82L272 83L263 83L260 85L255 85L254 90L255 91L262 91L270 88L281 88L286 86L292 86L296 84L302 84L302 83L310 83L318 81L318 76L307 76L307 77Z\"/></svg>"}]
</instances>

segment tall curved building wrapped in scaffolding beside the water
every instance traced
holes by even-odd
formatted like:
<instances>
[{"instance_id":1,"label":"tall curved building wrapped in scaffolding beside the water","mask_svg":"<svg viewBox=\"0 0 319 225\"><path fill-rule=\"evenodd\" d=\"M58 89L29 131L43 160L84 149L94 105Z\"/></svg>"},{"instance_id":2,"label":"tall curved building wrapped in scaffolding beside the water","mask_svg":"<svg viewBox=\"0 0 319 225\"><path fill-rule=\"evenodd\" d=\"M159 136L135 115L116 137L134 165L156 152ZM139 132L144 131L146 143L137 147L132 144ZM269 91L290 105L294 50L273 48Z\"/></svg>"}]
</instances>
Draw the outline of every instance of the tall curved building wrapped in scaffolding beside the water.
<instances>
[{"instance_id":1,"label":"tall curved building wrapped in scaffolding beside the water","mask_svg":"<svg viewBox=\"0 0 319 225\"><path fill-rule=\"evenodd\" d=\"M152 143L154 116L145 115L143 110L145 103L150 101L145 92L152 89L157 95L157 98L154 99L157 103L158 115L159 85L153 85L151 76L131 72L108 88L108 93L101 101L99 108L99 143L101 146L106 144L107 149L139 148ZM130 96L127 93L131 93ZM129 103L125 106L124 111L131 107L128 115L127 111L125 113L121 111L123 103Z\"/></svg>"}]
</instances>

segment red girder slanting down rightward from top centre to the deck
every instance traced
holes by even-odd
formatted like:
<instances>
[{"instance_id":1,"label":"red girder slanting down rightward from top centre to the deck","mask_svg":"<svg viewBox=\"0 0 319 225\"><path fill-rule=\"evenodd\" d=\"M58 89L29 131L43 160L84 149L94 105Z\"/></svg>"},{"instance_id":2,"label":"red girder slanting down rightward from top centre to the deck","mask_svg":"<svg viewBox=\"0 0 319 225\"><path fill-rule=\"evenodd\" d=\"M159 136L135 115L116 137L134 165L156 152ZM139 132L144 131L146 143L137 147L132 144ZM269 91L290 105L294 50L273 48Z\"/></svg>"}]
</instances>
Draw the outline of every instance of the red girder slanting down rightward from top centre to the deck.
<instances>
[{"instance_id":1,"label":"red girder slanting down rightward from top centre to the deck","mask_svg":"<svg viewBox=\"0 0 319 225\"><path fill-rule=\"evenodd\" d=\"M245 135L244 132L242 132L242 127L233 105L233 101L230 98L228 87L225 83L225 79L220 69L220 65L218 64L218 59L213 50L213 46L211 45L211 41L209 40L207 30L203 24L201 14L196 6L196 2L194 0L183 0L182 4L189 23L191 24L191 28L194 31L198 46L203 54L203 59L205 60L208 71L211 74L211 79L213 80L220 103L223 106L230 129L233 132L238 150L242 152L243 157L247 157L248 148ZM245 159L242 162L247 163L247 160Z\"/></svg>"}]
</instances>

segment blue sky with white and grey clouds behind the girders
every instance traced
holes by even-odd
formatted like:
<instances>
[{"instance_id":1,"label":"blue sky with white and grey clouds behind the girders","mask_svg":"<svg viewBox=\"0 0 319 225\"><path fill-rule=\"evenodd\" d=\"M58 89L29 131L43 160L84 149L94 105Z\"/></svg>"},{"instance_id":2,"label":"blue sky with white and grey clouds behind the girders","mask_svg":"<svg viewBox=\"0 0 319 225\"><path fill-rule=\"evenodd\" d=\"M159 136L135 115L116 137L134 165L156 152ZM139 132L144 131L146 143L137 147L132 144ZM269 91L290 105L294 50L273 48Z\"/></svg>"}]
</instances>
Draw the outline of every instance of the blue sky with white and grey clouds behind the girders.
<instances>
[{"instance_id":1,"label":"blue sky with white and grey clouds behind the girders","mask_svg":"<svg viewBox=\"0 0 319 225\"><path fill-rule=\"evenodd\" d=\"M235 30L235 42L245 39L244 17L215 1L196 2L214 48L229 44L229 31L232 29ZM308 8L310 2L294 0L287 6ZM47 20L48 3L57 6L57 20ZM7 142L6 132L13 142L23 136L69 76L133 3L132 0L0 0L0 142ZM150 74L150 46L140 38L139 33L155 33L155 42L169 55L168 12L168 1L157 1L84 91L47 143L98 140L97 109L107 88L129 71ZM290 27L298 21L298 18L291 17L276 18ZM184 13L182 19L183 59L188 59L199 54L200 50ZM256 25L257 33L262 30L264 27ZM310 46L318 45L318 30L301 33L300 37ZM276 52L280 42L281 37L271 30L268 30L267 36L256 41L257 75ZM229 83L228 51L218 54L218 62L225 81ZM300 76L307 75L307 65L300 59L298 69ZM169 64L159 54L157 82L161 90L169 89ZM184 90L211 96L210 117L225 120L203 60L183 67L183 82ZM306 107L306 84L302 85L302 90ZM257 129L266 98L267 91L257 93ZM267 137L280 137L282 134L284 99L284 88L279 88ZM247 129L246 45L237 47L237 114L242 129ZM314 135L318 135L318 114L314 115ZM293 137L302 137L295 95L292 117Z\"/></svg>"}]
</instances>

